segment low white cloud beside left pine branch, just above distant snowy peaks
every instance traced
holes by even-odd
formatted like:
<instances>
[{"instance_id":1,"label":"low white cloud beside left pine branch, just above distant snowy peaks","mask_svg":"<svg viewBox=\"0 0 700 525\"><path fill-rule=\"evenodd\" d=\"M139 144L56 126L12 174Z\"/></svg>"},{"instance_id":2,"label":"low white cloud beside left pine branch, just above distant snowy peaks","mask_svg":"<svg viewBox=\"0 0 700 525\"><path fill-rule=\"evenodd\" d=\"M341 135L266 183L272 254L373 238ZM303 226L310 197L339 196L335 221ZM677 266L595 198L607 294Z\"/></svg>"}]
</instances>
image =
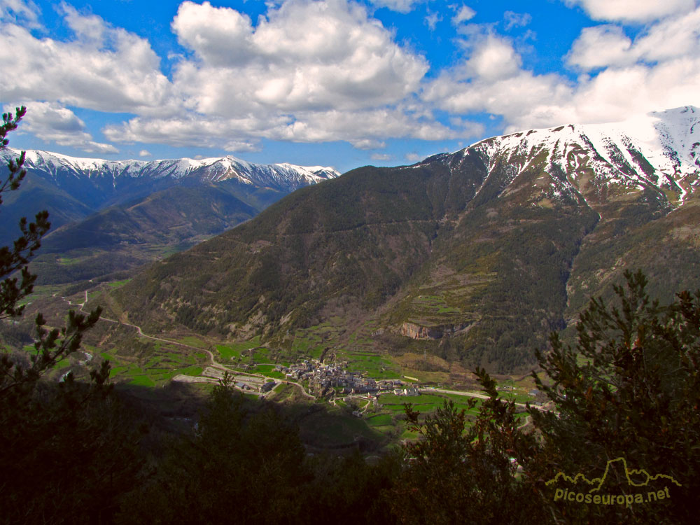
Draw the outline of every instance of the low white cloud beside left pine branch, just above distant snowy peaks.
<instances>
[{"instance_id":1,"label":"low white cloud beside left pine branch, just above distant snowy peaks","mask_svg":"<svg viewBox=\"0 0 700 525\"><path fill-rule=\"evenodd\" d=\"M71 146L87 153L118 153L118 149L111 144L93 141L92 135L85 131L83 120L70 109L52 102L15 104L20 105L27 106L27 115L22 120L22 131L34 134L43 141ZM8 111L8 106L5 111Z\"/></svg>"}]
</instances>

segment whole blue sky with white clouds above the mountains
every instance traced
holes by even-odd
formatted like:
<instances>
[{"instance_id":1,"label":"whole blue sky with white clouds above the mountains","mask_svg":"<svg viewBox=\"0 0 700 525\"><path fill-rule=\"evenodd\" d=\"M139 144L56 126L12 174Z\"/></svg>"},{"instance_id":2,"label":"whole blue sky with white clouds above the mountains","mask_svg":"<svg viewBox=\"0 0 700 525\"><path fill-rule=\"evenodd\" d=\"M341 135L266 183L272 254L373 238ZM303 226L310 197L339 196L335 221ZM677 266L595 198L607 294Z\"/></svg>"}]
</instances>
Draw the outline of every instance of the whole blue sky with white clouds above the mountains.
<instances>
[{"instance_id":1,"label":"whole blue sky with white clouds above the mountains","mask_svg":"<svg viewBox=\"0 0 700 525\"><path fill-rule=\"evenodd\" d=\"M700 106L697 0L0 0L15 148L402 165ZM13 74L8 73L13 71Z\"/></svg>"}]
</instances>

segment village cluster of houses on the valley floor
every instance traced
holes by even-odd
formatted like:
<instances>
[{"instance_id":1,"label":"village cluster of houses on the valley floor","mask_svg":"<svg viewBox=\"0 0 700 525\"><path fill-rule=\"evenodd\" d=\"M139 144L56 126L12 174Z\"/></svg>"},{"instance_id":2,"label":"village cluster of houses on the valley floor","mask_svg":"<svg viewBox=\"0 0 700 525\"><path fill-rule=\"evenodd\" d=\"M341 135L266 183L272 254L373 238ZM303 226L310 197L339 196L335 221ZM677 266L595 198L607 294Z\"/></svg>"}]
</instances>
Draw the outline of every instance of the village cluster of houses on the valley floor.
<instances>
[{"instance_id":1,"label":"village cluster of houses on the valley floor","mask_svg":"<svg viewBox=\"0 0 700 525\"><path fill-rule=\"evenodd\" d=\"M302 360L290 367L278 365L287 379L309 381L309 391L316 395L330 393L374 394L393 392L397 395L418 395L418 389L406 386L400 379L379 379L376 381L362 372L346 370L347 363L325 365L316 359Z\"/></svg>"}]
</instances>

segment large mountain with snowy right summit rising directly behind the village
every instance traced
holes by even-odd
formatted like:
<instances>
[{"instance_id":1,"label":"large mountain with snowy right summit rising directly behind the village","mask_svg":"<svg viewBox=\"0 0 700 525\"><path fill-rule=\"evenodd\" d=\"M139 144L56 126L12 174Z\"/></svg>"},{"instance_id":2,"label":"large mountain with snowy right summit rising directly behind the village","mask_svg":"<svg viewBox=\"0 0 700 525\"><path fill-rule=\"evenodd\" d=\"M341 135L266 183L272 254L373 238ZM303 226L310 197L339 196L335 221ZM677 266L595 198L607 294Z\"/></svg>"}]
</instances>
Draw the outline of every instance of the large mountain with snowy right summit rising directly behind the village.
<instances>
[{"instance_id":1,"label":"large mountain with snowy right summit rising directly behind the village","mask_svg":"<svg viewBox=\"0 0 700 525\"><path fill-rule=\"evenodd\" d=\"M692 107L481 141L353 170L140 274L113 296L149 330L292 344L320 322L380 351L501 372L641 267L664 300L700 286Z\"/></svg>"}]
</instances>

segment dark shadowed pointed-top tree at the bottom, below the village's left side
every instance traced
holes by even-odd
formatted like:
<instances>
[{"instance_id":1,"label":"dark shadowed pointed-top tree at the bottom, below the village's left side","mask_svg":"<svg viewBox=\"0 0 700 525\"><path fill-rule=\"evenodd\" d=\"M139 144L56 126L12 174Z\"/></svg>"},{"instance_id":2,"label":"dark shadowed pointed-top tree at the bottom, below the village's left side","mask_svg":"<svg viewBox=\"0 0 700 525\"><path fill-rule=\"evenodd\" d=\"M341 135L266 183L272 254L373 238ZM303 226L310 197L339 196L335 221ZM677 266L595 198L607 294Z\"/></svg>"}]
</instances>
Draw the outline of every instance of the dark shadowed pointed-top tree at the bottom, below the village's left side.
<instances>
[{"instance_id":1,"label":"dark shadowed pointed-top tree at the bottom, below the village's left side","mask_svg":"<svg viewBox=\"0 0 700 525\"><path fill-rule=\"evenodd\" d=\"M297 523L308 482L296 428L271 405L246 404L225 377L197 430L123 504L123 523Z\"/></svg>"}]
</instances>

